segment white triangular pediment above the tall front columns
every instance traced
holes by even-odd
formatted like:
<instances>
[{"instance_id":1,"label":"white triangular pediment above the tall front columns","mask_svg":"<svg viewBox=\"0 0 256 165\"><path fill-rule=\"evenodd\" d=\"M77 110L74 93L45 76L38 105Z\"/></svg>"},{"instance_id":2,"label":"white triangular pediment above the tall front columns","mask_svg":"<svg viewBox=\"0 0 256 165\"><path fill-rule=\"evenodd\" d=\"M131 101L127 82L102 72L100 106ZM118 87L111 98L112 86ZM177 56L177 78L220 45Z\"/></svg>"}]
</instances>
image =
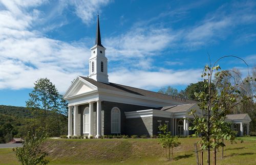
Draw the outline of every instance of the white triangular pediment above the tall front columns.
<instances>
[{"instance_id":1,"label":"white triangular pediment above the tall front columns","mask_svg":"<svg viewBox=\"0 0 256 165\"><path fill-rule=\"evenodd\" d=\"M93 84L89 83L88 81L80 78L79 76L74 80L71 84L69 89L66 91L65 95L63 96L64 99L79 96L83 93L89 93L90 91L97 90L97 87Z\"/></svg>"}]
</instances>

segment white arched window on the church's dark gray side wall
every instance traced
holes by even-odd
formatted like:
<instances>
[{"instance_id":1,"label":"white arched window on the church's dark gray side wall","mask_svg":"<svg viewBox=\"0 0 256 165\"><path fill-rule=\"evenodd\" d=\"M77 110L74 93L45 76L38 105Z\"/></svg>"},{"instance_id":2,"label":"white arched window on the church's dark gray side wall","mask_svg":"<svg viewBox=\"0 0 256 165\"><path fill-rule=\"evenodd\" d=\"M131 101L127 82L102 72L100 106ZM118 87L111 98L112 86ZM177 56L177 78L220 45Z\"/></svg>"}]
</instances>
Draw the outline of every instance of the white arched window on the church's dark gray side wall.
<instances>
[{"instance_id":1,"label":"white arched window on the church's dark gray side wall","mask_svg":"<svg viewBox=\"0 0 256 165\"><path fill-rule=\"evenodd\" d=\"M117 107L112 108L111 110L111 133L121 133L120 131L120 109Z\"/></svg>"}]
</instances>

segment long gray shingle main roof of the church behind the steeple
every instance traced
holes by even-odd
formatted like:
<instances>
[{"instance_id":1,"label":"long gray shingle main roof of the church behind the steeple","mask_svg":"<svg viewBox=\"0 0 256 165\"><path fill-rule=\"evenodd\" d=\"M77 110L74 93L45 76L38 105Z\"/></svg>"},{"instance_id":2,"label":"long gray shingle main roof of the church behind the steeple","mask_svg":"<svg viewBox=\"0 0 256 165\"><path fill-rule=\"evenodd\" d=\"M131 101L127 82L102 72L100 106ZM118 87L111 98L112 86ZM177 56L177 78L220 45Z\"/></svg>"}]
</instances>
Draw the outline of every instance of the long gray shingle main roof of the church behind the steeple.
<instances>
[{"instance_id":1,"label":"long gray shingle main roof of the church behind the steeple","mask_svg":"<svg viewBox=\"0 0 256 165\"><path fill-rule=\"evenodd\" d=\"M183 99L183 98L179 98L179 97L173 97L173 96L165 95L165 94L150 91L150 90L144 90L144 89L140 89L140 88L125 86L125 85L115 84L115 83L106 84L106 83L95 81L88 77L82 77L82 76L79 76L79 77L88 81L89 83L91 83L99 88L103 88L103 89L120 91L120 92L124 92L124 93L132 93L135 95L145 96L145 97L154 98L154 99L170 100L170 101L175 101L175 102L179 102L182 104L197 103L196 101Z\"/></svg>"}]
</instances>

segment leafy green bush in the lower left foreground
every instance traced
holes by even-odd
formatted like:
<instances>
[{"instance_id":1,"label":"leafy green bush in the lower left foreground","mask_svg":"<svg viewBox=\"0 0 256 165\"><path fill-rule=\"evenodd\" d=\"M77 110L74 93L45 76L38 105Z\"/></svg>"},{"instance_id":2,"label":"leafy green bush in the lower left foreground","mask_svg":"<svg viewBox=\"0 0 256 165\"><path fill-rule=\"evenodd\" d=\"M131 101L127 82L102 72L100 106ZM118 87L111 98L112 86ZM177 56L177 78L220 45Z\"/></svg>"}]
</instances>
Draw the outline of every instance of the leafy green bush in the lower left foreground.
<instances>
[{"instance_id":1,"label":"leafy green bush in the lower left foreground","mask_svg":"<svg viewBox=\"0 0 256 165\"><path fill-rule=\"evenodd\" d=\"M23 143L23 147L13 148L16 152L18 161L22 164L47 164L49 160L45 157L48 155L46 152L42 152L40 146L44 143L46 134L36 133L32 134L28 132Z\"/></svg>"}]
</instances>

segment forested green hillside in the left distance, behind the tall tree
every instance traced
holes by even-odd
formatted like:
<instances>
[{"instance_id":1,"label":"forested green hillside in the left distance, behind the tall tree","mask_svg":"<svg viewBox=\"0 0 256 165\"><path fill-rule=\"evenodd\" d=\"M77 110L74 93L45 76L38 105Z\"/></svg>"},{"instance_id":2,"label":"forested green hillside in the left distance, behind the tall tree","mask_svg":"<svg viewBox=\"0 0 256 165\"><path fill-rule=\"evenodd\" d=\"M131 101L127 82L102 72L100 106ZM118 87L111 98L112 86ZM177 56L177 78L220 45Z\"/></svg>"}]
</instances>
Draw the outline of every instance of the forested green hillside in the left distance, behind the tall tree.
<instances>
[{"instance_id":1,"label":"forested green hillside in the left distance, behind the tall tree","mask_svg":"<svg viewBox=\"0 0 256 165\"><path fill-rule=\"evenodd\" d=\"M66 134L66 115L48 111L49 136ZM24 137L40 125L36 114L25 107L0 105L0 143L8 143L13 137ZM59 127L57 127L59 126Z\"/></svg>"}]
</instances>

